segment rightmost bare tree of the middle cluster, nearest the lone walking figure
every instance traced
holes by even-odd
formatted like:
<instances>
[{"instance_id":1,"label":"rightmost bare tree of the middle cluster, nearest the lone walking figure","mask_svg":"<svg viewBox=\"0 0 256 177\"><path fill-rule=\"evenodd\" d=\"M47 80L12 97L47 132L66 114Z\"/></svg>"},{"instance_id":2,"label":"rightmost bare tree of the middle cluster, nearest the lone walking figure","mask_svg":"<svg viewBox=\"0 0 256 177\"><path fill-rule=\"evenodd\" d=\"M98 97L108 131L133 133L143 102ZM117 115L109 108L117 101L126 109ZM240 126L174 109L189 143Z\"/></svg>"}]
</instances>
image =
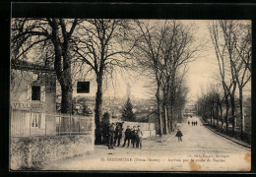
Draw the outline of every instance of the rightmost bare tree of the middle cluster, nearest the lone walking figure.
<instances>
[{"instance_id":1,"label":"rightmost bare tree of the middle cluster, nearest the lone walking figure","mask_svg":"<svg viewBox=\"0 0 256 177\"><path fill-rule=\"evenodd\" d=\"M163 76L162 86L166 87L164 94L170 107L168 125L172 130L172 120L175 118L174 109L177 105L176 90L180 88L180 83L176 81L178 72L181 72L183 80L186 73L186 64L192 62L196 58L197 52L201 49L201 43L195 44L196 39L193 36L193 26L183 25L180 21L169 21L166 24L166 34L161 47L163 58ZM184 67L185 66L185 67ZM180 70L184 67L184 71ZM182 82L181 82L182 83Z\"/></svg>"}]
</instances>

